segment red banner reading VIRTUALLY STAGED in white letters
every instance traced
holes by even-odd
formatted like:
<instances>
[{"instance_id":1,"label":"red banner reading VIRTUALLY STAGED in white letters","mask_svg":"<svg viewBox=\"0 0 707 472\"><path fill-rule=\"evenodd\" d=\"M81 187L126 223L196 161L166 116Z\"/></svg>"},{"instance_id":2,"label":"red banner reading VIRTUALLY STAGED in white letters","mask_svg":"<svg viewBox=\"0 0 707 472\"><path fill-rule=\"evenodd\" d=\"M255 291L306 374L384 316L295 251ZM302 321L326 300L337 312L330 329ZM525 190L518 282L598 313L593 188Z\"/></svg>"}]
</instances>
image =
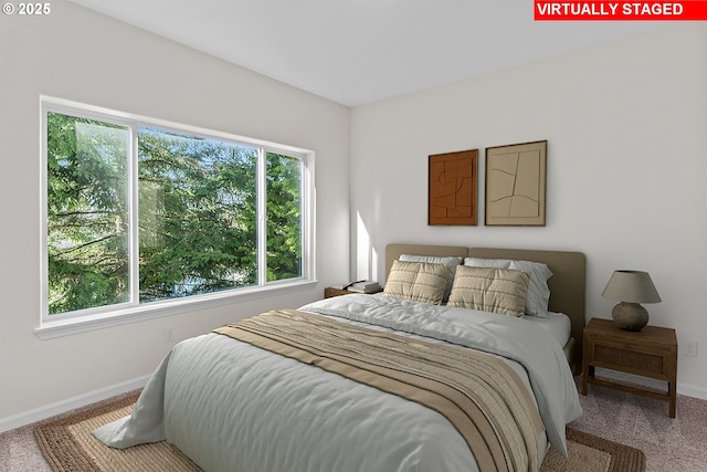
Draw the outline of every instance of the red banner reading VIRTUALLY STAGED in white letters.
<instances>
[{"instance_id":1,"label":"red banner reading VIRTUALLY STAGED in white letters","mask_svg":"<svg viewBox=\"0 0 707 472\"><path fill-rule=\"evenodd\" d=\"M707 20L707 0L546 1L535 0L536 21L695 21Z\"/></svg>"}]
</instances>

